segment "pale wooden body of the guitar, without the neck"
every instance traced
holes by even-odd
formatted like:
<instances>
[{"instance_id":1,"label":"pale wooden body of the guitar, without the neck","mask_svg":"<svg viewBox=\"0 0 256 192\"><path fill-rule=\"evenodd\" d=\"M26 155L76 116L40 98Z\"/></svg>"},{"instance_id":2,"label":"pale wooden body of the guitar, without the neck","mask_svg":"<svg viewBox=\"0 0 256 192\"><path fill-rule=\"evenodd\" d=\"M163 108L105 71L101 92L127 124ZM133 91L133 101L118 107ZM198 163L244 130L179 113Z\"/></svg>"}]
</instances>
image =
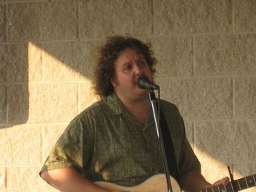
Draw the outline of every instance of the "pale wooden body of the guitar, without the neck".
<instances>
[{"instance_id":1,"label":"pale wooden body of the guitar, without the neck","mask_svg":"<svg viewBox=\"0 0 256 192\"><path fill-rule=\"evenodd\" d=\"M140 185L135 185L132 187L124 187L121 185L116 185L108 182L95 182L95 184L106 188L110 191L129 191L129 192L166 192L167 183L165 179L165 174L156 174L150 177L145 182ZM170 177L170 183L172 185L173 192L181 192L181 188L173 177Z\"/></svg>"}]
</instances>

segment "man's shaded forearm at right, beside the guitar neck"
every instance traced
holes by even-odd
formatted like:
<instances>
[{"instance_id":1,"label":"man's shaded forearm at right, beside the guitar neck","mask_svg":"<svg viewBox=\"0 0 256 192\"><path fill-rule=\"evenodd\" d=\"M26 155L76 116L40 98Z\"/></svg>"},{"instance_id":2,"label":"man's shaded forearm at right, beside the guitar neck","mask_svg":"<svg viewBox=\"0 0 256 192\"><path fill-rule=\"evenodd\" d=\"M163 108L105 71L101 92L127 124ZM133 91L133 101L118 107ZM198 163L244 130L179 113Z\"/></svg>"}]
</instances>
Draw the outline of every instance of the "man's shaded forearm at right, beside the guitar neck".
<instances>
[{"instance_id":1,"label":"man's shaded forearm at right, beside the guitar neck","mask_svg":"<svg viewBox=\"0 0 256 192\"><path fill-rule=\"evenodd\" d=\"M197 191L211 186L211 183L208 183L203 175L197 171L184 174L179 180L179 184L182 190L186 192Z\"/></svg>"}]
</instances>

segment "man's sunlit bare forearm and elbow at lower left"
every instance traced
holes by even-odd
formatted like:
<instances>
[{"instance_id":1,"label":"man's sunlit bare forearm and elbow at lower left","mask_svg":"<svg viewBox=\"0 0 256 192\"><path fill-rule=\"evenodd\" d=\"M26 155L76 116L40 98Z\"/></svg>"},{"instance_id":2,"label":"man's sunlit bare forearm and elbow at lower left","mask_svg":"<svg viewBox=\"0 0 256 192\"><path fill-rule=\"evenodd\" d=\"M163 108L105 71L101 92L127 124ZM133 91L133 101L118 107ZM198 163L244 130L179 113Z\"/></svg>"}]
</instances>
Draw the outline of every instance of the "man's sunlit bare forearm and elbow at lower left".
<instances>
[{"instance_id":1,"label":"man's sunlit bare forearm and elbow at lower left","mask_svg":"<svg viewBox=\"0 0 256 192\"><path fill-rule=\"evenodd\" d=\"M107 192L108 190L91 183L73 169L56 169L42 172L41 177L61 192Z\"/></svg>"}]
</instances>

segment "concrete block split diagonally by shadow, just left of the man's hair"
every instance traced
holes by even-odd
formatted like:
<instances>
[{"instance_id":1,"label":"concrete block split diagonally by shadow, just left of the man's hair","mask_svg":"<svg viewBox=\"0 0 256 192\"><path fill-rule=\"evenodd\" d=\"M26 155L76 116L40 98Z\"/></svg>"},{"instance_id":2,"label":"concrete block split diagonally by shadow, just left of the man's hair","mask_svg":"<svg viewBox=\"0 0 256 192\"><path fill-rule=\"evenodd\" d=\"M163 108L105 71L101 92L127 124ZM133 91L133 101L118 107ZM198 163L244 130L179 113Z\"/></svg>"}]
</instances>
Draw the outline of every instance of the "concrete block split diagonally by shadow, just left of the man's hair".
<instances>
[{"instance_id":1,"label":"concrete block split diagonally by shadow, just left of the man's hair","mask_svg":"<svg viewBox=\"0 0 256 192\"><path fill-rule=\"evenodd\" d=\"M94 42L54 42L43 47L45 81L88 80L93 77Z\"/></svg>"}]
</instances>

